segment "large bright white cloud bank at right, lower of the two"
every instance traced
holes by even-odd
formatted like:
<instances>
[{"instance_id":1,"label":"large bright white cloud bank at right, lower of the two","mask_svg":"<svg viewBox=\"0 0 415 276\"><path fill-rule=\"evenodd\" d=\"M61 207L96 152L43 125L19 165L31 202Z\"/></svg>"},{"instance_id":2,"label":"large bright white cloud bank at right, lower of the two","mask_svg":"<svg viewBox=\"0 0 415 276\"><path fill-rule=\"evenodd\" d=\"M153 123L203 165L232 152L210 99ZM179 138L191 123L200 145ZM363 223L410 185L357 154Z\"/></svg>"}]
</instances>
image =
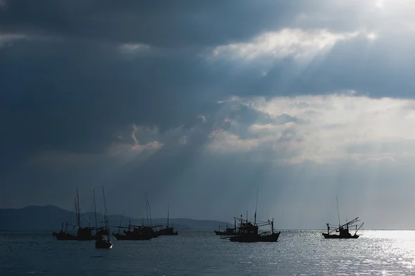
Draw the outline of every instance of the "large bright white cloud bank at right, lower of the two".
<instances>
[{"instance_id":1,"label":"large bright white cloud bank at right, lower of the two","mask_svg":"<svg viewBox=\"0 0 415 276\"><path fill-rule=\"evenodd\" d=\"M250 151L255 155L256 149L265 148L275 151L271 161L288 163L403 160L415 156L415 131L408 127L415 123L414 110L409 108L414 100L373 99L344 93L250 98L239 104L270 116L270 122L234 122L237 131L248 130L245 140L229 132L232 128L216 130L211 134L215 138L209 147L212 151ZM281 120L282 115L286 120ZM403 140L406 150L399 146Z\"/></svg>"}]
</instances>

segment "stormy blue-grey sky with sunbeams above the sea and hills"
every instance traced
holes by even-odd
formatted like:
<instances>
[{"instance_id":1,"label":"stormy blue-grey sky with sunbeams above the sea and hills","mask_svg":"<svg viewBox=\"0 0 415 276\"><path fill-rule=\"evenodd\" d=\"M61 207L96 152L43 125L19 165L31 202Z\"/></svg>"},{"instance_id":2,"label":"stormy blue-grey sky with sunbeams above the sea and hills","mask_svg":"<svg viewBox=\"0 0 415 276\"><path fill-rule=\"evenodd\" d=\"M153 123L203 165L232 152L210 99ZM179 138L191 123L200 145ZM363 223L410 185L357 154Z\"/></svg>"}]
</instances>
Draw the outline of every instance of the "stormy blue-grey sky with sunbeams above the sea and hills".
<instances>
[{"instance_id":1,"label":"stormy blue-grey sky with sunbeams above the sea and hills","mask_svg":"<svg viewBox=\"0 0 415 276\"><path fill-rule=\"evenodd\" d=\"M0 208L415 229L414 13L0 0Z\"/></svg>"}]
</instances>

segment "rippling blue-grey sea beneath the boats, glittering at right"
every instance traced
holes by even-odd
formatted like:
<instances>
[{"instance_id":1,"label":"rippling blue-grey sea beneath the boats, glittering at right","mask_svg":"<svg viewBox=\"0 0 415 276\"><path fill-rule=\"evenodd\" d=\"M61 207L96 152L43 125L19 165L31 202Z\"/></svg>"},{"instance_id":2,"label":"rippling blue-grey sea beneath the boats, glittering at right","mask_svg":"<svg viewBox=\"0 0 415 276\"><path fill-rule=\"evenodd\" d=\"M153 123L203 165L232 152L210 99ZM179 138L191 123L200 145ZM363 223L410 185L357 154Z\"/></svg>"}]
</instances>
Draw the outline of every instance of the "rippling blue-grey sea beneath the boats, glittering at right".
<instances>
[{"instance_id":1,"label":"rippling blue-grey sea beneath the boats, glittering at right","mask_svg":"<svg viewBox=\"0 0 415 276\"><path fill-rule=\"evenodd\" d=\"M209 232L149 241L56 241L52 232L0 232L0 275L415 275L415 231L282 231L277 243L233 243Z\"/></svg>"}]
</instances>

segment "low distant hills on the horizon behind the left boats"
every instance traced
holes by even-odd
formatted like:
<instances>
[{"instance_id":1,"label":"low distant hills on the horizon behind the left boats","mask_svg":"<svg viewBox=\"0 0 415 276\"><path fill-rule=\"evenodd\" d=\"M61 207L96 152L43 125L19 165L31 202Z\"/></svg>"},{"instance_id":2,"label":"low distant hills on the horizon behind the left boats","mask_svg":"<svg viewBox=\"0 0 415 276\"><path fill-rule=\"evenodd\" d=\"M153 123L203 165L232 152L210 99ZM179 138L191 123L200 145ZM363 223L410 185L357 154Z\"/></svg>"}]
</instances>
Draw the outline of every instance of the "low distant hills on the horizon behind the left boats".
<instances>
[{"instance_id":1,"label":"low distant hills on the horizon behind the left boats","mask_svg":"<svg viewBox=\"0 0 415 276\"><path fill-rule=\"evenodd\" d=\"M136 219L124 217L122 215L109 215L110 226L119 226L122 220L122 226L127 226L131 220L131 224L147 225L147 218ZM104 221L104 215L97 213L98 226ZM0 209L0 230L3 231L33 231L33 230L60 230L63 223L76 224L75 212L64 210L53 205L46 206L28 206L21 209ZM226 227L226 223L222 221L212 220L196 220L196 219L174 219L170 218L170 225L174 222L176 230L216 230L220 225L221 228ZM163 225L167 223L167 219L152 219L153 225ZM82 226L95 226L95 214L86 212L81 214ZM68 226L68 230L69 230ZM112 227L112 232L118 231L118 228Z\"/></svg>"}]
</instances>

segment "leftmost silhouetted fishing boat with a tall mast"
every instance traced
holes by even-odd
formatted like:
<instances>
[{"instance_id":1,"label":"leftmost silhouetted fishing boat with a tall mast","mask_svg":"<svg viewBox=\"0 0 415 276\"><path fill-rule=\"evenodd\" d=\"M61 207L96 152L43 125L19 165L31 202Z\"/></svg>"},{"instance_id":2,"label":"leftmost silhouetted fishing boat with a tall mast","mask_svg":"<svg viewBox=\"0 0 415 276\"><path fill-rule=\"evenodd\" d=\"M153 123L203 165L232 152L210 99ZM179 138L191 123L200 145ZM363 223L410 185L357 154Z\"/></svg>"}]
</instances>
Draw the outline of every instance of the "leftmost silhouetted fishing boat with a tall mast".
<instances>
[{"instance_id":1,"label":"leftmost silhouetted fishing boat with a tall mast","mask_svg":"<svg viewBox=\"0 0 415 276\"><path fill-rule=\"evenodd\" d=\"M92 234L93 228L90 226L82 227L81 226L81 212L80 212L80 194L78 188L76 187L76 196L75 196L75 214L76 214L76 221L77 225L73 226L70 223L66 223L66 227L64 230L64 223L62 223L62 228L59 232L53 232L52 236L55 237L58 241L91 241L95 239ZM88 219L88 218L87 218ZM77 228L76 236L67 232L68 226L73 226L73 228Z\"/></svg>"}]
</instances>

